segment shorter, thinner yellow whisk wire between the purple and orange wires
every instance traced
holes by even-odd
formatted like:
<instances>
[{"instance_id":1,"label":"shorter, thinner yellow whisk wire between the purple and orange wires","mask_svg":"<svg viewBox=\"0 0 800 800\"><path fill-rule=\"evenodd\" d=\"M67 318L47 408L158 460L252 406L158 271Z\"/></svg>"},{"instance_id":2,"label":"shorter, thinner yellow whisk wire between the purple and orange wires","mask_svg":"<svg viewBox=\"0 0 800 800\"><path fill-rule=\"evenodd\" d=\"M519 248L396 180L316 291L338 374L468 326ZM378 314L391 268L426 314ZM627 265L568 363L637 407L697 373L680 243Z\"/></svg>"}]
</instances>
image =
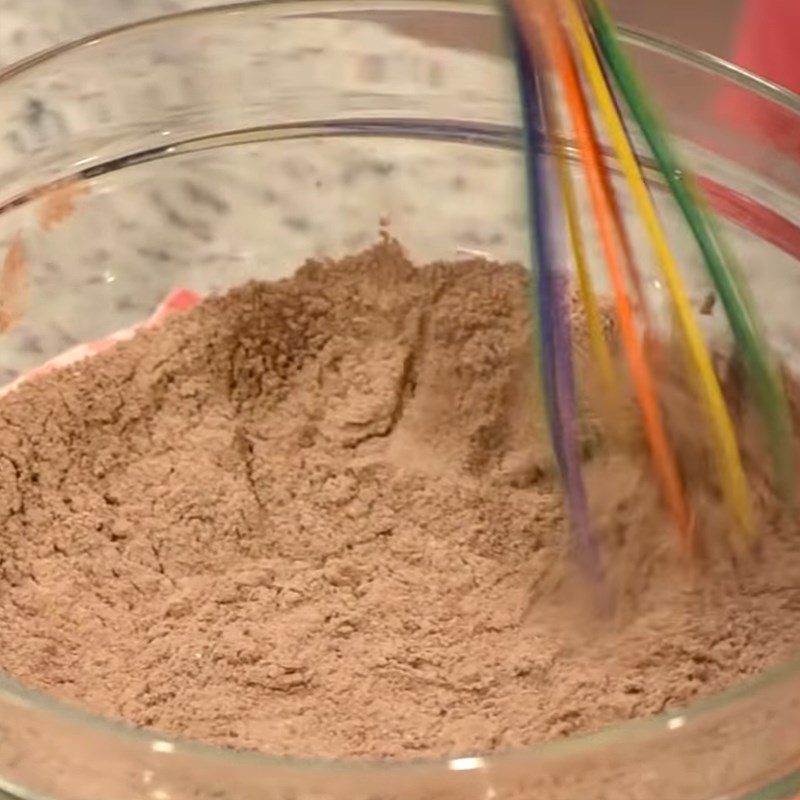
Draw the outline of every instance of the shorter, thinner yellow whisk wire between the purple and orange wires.
<instances>
[{"instance_id":1,"label":"shorter, thinner yellow whisk wire between the purple and orange wires","mask_svg":"<svg viewBox=\"0 0 800 800\"><path fill-rule=\"evenodd\" d=\"M555 115L554 115L555 116ZM559 124L559 128L560 128ZM603 320L600 315L600 306L592 285L592 276L586 259L586 245L581 229L580 214L578 204L575 199L575 187L572 176L569 173L567 155L564 151L564 144L560 139L560 132L556 131L554 150L556 156L556 174L561 188L561 197L564 201L564 213L567 220L567 232L569 234L572 256L575 262L575 272L578 275L578 293L586 312L586 327L589 333L589 345L594 352L597 361L600 378L603 381L603 388L609 397L616 394L616 381L614 380L614 369L611 361L611 352L603 332Z\"/></svg>"}]
</instances>

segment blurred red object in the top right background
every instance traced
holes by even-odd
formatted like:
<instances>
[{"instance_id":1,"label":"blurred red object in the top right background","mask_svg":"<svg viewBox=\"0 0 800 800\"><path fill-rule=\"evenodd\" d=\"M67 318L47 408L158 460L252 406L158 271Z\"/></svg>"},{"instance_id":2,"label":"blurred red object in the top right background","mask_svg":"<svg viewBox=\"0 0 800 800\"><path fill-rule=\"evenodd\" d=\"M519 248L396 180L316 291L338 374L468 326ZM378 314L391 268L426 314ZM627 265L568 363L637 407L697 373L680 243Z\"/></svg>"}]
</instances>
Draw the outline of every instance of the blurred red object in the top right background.
<instances>
[{"instance_id":1,"label":"blurred red object in the top right background","mask_svg":"<svg viewBox=\"0 0 800 800\"><path fill-rule=\"evenodd\" d=\"M800 0L745 0L733 61L800 94ZM800 159L800 120L736 87L720 98L728 121Z\"/></svg>"}]
</instances>

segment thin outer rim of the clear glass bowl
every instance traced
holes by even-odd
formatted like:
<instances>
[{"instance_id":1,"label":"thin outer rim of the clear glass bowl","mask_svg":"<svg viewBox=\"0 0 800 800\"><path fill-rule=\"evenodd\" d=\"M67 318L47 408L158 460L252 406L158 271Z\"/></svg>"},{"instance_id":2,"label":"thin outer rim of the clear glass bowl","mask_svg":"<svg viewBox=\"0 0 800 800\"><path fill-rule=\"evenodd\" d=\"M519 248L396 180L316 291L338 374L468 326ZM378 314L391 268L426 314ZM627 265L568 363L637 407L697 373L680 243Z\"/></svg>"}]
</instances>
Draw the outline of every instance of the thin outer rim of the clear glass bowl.
<instances>
[{"instance_id":1,"label":"thin outer rim of the clear glass bowl","mask_svg":"<svg viewBox=\"0 0 800 800\"><path fill-rule=\"evenodd\" d=\"M214 19L222 15L236 14L254 8L274 8L278 15L284 16L291 12L292 7L298 11L307 12L309 7L324 9L326 13L347 12L352 15L358 11L393 11L404 12L439 11L457 12L462 14L491 15L496 10L491 0L245 0L226 6L210 6L205 8L182 11L163 16L156 16L137 22L108 28L98 33L70 41L55 47L43 50L28 58L10 64L0 70L0 90L13 78L38 66L56 61L66 53L91 47L100 42L113 41L115 38L134 30L147 28L163 29L171 25L180 24L187 19ZM725 59L710 53L685 47L678 42L654 35L639 28L621 25L620 34L624 42L636 45L641 50L649 50L667 58L682 62L698 68L704 72L716 75L741 88L760 96L765 100L783 107L798 120L800 125L800 95L780 86L777 83L762 78L749 70L732 64ZM155 731L135 728L127 723L99 717L77 706L57 700L49 695L28 689L14 678L0 672L0 701L9 706L24 707L32 711L52 714L61 721L74 726L76 729L91 729L94 732L108 734L128 740L131 744L143 747L164 749L169 752L183 754L188 757L202 758L205 761L219 760L228 767L241 765L269 769L280 767L282 769L324 769L324 770L353 770L361 773L387 770L402 770L405 774L415 769L430 769L432 767L452 766L454 761L461 762L459 770L486 769L491 765L524 761L526 763L557 761L563 758L580 756L583 753L592 753L599 750L623 746L626 742L667 735L668 733L687 733L692 723L697 723L716 711L728 709L738 702L751 699L760 692L780 687L800 676L800 654L794 659L786 661L769 670L765 670L755 678L742 681L733 688L719 692L691 704L685 709L673 710L667 713L631 720L611 725L602 730L566 739L542 742L523 748L513 748L488 755L463 754L457 758L431 758L416 759L411 761L369 761L354 759L309 759L291 756L268 756L260 753L235 751L221 747L202 744L199 742L175 739L159 734ZM676 724L677 723L677 724ZM471 765L469 762L475 762Z\"/></svg>"}]
</instances>

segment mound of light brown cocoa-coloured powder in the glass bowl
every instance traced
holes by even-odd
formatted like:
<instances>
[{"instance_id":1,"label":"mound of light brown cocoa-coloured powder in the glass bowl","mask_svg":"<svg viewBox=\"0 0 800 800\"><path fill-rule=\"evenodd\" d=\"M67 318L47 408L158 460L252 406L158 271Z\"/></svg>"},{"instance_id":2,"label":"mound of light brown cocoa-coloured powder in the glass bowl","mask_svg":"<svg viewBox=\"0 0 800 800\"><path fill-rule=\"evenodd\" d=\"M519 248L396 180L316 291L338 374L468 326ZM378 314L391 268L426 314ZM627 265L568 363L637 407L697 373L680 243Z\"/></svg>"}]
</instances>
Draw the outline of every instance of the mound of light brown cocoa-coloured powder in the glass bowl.
<instances>
[{"instance_id":1,"label":"mound of light brown cocoa-coloured powder in the glass bowl","mask_svg":"<svg viewBox=\"0 0 800 800\"><path fill-rule=\"evenodd\" d=\"M764 546L734 566L700 461L719 552L689 569L641 458L589 457L615 610L585 610L524 282L384 242L0 400L0 669L178 736L408 758L596 729L787 656L797 525L759 500Z\"/></svg>"}]
</instances>

